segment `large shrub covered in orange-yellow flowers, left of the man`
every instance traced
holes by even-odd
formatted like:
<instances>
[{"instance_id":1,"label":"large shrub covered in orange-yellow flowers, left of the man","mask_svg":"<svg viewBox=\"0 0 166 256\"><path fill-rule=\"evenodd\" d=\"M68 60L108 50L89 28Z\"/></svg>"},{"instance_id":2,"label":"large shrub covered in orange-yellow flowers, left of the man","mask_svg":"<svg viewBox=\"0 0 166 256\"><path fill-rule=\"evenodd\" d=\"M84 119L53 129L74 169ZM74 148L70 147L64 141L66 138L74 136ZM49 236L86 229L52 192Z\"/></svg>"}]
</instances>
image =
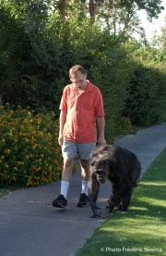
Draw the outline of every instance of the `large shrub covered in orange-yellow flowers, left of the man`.
<instances>
[{"instance_id":1,"label":"large shrub covered in orange-yellow flowers, left of the man","mask_svg":"<svg viewBox=\"0 0 166 256\"><path fill-rule=\"evenodd\" d=\"M40 186L61 178L63 159L53 112L0 106L0 187Z\"/></svg>"}]
</instances>

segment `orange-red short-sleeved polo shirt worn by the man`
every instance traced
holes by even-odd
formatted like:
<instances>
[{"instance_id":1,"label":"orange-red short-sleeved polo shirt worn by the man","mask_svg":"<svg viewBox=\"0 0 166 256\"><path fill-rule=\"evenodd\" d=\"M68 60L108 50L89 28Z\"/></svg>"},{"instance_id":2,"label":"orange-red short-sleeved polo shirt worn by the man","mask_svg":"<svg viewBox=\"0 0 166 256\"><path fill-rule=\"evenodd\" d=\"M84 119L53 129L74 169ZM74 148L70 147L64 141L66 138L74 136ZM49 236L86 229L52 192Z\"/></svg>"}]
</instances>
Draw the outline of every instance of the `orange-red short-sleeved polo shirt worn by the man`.
<instances>
[{"instance_id":1,"label":"orange-red short-sleeved polo shirt worn by the man","mask_svg":"<svg viewBox=\"0 0 166 256\"><path fill-rule=\"evenodd\" d=\"M74 142L96 142L96 118L104 116L101 91L88 81L86 90L77 95L77 86L65 86L59 109L65 110L65 139Z\"/></svg>"}]
</instances>

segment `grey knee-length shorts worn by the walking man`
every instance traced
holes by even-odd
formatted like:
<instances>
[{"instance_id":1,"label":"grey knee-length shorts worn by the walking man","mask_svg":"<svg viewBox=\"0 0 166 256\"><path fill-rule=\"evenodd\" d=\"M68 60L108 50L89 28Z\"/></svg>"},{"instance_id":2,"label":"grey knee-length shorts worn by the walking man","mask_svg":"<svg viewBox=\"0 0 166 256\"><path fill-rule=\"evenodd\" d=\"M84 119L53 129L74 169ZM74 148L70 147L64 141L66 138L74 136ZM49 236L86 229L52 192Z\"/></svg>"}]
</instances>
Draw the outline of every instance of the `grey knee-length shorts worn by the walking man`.
<instances>
[{"instance_id":1,"label":"grey knee-length shorts worn by the walking man","mask_svg":"<svg viewBox=\"0 0 166 256\"><path fill-rule=\"evenodd\" d=\"M89 155L95 147L95 142L77 143L65 140L62 147L63 158L75 159L78 155L81 160L89 160Z\"/></svg>"}]
</instances>

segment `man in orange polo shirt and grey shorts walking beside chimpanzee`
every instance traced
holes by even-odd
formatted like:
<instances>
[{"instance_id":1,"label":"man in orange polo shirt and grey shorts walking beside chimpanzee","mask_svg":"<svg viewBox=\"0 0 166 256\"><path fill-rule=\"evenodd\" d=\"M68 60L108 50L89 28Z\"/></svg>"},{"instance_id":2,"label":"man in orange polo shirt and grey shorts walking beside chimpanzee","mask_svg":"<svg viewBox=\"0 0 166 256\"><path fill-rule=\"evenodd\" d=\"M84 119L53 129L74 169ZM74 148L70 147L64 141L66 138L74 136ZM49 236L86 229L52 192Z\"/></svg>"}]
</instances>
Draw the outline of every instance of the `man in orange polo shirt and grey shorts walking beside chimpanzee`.
<instances>
[{"instance_id":1,"label":"man in orange polo shirt and grey shorts walking beside chimpanzee","mask_svg":"<svg viewBox=\"0 0 166 256\"><path fill-rule=\"evenodd\" d=\"M61 181L61 192L53 200L53 207L65 208L67 191L72 178L76 155L81 165L82 191L77 207L89 204L89 155L96 147L99 128L99 145L106 144L104 138L104 109L101 91L87 80L87 72L80 65L69 70L71 84L66 85L60 103L59 145L62 146L64 170Z\"/></svg>"}]
</instances>

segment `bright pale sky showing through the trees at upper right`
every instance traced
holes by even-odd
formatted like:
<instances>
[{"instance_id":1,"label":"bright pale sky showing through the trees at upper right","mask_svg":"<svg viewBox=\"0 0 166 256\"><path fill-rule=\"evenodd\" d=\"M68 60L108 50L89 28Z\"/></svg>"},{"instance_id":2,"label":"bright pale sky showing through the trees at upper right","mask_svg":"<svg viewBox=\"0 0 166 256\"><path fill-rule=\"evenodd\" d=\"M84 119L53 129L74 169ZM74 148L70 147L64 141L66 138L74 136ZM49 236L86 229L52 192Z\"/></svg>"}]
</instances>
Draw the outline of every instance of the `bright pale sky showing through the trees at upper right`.
<instances>
[{"instance_id":1,"label":"bright pale sky showing through the trees at upper right","mask_svg":"<svg viewBox=\"0 0 166 256\"><path fill-rule=\"evenodd\" d=\"M144 10L138 12L140 15L139 18L142 22L142 27L145 29L146 37L149 42L152 36L152 32L158 31L158 34L160 34L160 27L163 27L164 25L164 17L166 17L166 0L162 0L162 6L165 9L160 13L159 19L152 19L152 22L148 21L147 14Z\"/></svg>"}]
</instances>

